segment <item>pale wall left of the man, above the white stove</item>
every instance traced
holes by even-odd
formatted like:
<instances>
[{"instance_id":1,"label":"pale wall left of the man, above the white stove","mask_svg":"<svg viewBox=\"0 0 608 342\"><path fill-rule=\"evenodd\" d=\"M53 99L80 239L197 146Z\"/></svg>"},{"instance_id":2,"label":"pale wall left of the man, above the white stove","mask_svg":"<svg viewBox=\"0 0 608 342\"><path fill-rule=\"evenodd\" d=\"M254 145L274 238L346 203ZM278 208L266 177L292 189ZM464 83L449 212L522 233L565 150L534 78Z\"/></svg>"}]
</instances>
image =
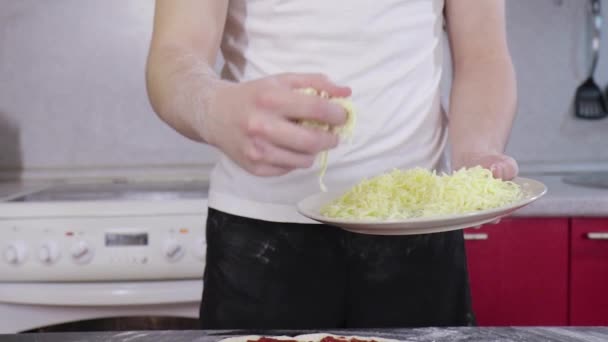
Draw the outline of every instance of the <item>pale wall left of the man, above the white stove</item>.
<instances>
[{"instance_id":1,"label":"pale wall left of the man, above the white stove","mask_svg":"<svg viewBox=\"0 0 608 342\"><path fill-rule=\"evenodd\" d=\"M153 7L151 0L0 0L0 168L215 160L149 106Z\"/></svg>"}]
</instances>

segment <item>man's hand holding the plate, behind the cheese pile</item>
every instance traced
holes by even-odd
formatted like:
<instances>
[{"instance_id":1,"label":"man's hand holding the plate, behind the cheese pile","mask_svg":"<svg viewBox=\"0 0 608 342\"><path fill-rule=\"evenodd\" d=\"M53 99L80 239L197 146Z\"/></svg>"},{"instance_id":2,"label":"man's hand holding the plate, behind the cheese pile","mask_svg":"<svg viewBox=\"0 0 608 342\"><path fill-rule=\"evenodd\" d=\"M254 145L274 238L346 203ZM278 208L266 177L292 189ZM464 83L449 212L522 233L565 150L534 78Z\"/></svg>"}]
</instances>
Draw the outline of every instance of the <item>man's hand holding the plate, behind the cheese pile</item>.
<instances>
[{"instance_id":1,"label":"man's hand holding the plate, behind the cheese pile","mask_svg":"<svg viewBox=\"0 0 608 342\"><path fill-rule=\"evenodd\" d=\"M458 170L462 167L481 166L490 171L496 178L512 180L519 173L519 166L515 159L502 153L469 153L454 156L453 169Z\"/></svg>"}]
</instances>

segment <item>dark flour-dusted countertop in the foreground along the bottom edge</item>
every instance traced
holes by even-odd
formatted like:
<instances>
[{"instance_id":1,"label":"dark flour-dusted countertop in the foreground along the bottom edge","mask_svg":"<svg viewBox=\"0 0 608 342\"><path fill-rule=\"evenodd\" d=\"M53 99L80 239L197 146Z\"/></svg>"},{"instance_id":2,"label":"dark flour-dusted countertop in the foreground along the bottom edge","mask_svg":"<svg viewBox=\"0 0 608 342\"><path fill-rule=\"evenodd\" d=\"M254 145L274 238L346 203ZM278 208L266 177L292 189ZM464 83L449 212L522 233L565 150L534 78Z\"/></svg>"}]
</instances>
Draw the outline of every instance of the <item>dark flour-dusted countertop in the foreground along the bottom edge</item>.
<instances>
[{"instance_id":1,"label":"dark flour-dusted countertop in the foreground along the bottom edge","mask_svg":"<svg viewBox=\"0 0 608 342\"><path fill-rule=\"evenodd\" d=\"M339 335L360 335L393 338L409 342L605 342L608 341L608 327L500 327L500 328L419 328L387 330L332 331ZM264 335L296 335L308 332L273 331ZM133 331L133 332L90 332L90 333L38 333L21 335L0 335L3 342L216 342L228 335L247 335L252 332L240 331Z\"/></svg>"}]
</instances>

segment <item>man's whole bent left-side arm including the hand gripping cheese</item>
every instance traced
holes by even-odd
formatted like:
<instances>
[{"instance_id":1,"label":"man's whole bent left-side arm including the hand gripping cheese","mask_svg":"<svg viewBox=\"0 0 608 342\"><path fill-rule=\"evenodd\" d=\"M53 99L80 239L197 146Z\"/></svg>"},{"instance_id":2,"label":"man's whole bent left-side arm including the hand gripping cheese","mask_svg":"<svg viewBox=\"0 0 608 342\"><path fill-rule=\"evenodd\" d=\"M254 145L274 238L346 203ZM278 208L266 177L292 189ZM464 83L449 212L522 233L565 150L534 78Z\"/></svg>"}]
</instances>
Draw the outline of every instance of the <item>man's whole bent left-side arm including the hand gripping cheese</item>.
<instances>
[{"instance_id":1,"label":"man's whole bent left-side arm including the hand gripping cheese","mask_svg":"<svg viewBox=\"0 0 608 342\"><path fill-rule=\"evenodd\" d=\"M351 90L323 75L282 74L244 83L221 80L212 66L219 52L228 1L157 0L146 78L152 107L184 136L211 144L258 176L278 176L314 163L338 143L334 134L299 120L343 125L346 113L327 99L304 95L313 87L333 97Z\"/></svg>"}]
</instances>

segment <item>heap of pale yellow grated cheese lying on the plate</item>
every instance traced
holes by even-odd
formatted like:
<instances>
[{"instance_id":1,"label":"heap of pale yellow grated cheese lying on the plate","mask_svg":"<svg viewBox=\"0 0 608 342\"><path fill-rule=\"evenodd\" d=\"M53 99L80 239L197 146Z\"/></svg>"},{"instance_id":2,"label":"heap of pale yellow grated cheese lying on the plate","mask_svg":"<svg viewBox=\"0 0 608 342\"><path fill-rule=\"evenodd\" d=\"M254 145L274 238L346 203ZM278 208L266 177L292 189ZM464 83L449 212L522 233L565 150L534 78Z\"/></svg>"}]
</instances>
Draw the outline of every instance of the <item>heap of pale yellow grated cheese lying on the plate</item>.
<instances>
[{"instance_id":1,"label":"heap of pale yellow grated cheese lying on the plate","mask_svg":"<svg viewBox=\"0 0 608 342\"><path fill-rule=\"evenodd\" d=\"M451 175L422 168L393 170L365 179L321 209L330 218L395 220L463 214L513 203L519 185L480 166Z\"/></svg>"}]
</instances>

